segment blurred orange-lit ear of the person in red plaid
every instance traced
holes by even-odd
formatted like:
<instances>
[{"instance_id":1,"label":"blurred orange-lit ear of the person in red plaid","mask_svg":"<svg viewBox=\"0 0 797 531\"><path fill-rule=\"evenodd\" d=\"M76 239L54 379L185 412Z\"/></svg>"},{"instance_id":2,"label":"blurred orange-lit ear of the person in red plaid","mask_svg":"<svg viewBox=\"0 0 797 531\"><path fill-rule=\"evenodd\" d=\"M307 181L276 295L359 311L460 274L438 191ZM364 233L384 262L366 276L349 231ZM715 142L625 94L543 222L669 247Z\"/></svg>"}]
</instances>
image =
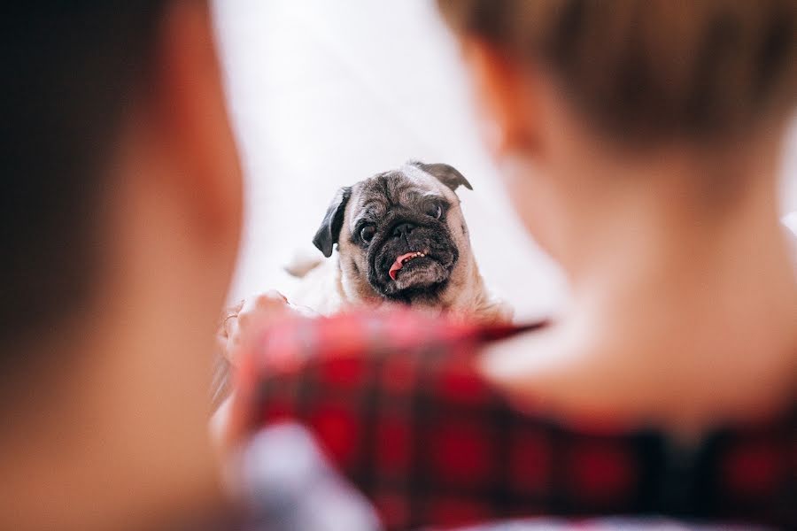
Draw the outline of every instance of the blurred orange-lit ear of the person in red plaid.
<instances>
[{"instance_id":1,"label":"blurred orange-lit ear of the person in red plaid","mask_svg":"<svg viewBox=\"0 0 797 531\"><path fill-rule=\"evenodd\" d=\"M465 36L460 43L493 157L533 148L539 125L530 73L489 42Z\"/></svg>"}]
</instances>

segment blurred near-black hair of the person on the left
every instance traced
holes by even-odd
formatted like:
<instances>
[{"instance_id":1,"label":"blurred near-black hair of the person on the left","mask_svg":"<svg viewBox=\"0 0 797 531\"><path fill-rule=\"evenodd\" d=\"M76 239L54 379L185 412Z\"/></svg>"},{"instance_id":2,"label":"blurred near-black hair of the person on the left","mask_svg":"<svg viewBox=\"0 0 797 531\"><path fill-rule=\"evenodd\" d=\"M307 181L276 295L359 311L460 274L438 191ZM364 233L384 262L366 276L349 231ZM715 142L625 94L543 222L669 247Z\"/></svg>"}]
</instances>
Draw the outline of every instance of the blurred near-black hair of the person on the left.
<instances>
[{"instance_id":1,"label":"blurred near-black hair of the person on the left","mask_svg":"<svg viewBox=\"0 0 797 531\"><path fill-rule=\"evenodd\" d=\"M104 191L167 0L26 0L0 18L0 381L97 285ZM11 345L14 345L12 348Z\"/></svg>"}]
</instances>

